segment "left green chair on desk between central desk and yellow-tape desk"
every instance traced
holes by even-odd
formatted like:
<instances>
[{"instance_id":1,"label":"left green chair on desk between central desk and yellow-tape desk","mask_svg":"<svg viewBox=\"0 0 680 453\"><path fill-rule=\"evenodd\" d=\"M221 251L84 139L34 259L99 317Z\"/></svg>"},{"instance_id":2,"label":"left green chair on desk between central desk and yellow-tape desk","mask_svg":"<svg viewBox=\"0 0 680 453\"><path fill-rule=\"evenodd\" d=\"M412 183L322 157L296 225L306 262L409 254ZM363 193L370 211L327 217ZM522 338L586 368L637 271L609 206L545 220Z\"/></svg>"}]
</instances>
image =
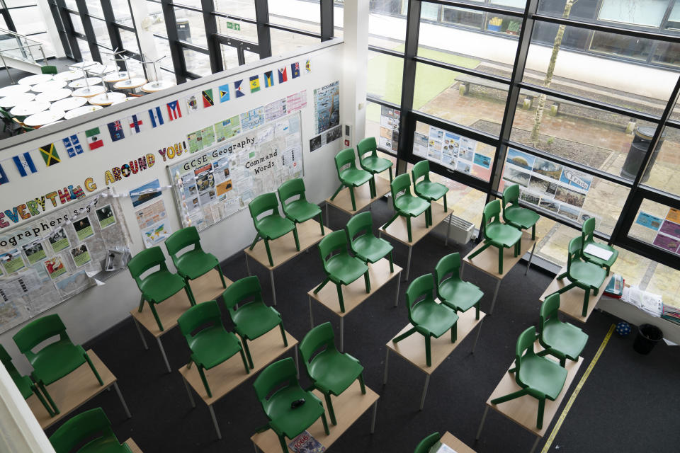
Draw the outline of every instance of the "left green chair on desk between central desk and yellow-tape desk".
<instances>
[{"instance_id":1,"label":"left green chair on desk between central desk and yellow-tape desk","mask_svg":"<svg viewBox=\"0 0 680 453\"><path fill-rule=\"evenodd\" d=\"M413 328L392 340L392 343L396 344L412 333L420 333L425 337L425 360L428 367L432 365L430 337L439 338L450 330L451 343L455 343L456 323L458 322L458 315L453 309L444 304L438 304L434 300L433 289L432 274L421 275L413 280L406 290L409 321L413 324Z\"/></svg>"}]
</instances>

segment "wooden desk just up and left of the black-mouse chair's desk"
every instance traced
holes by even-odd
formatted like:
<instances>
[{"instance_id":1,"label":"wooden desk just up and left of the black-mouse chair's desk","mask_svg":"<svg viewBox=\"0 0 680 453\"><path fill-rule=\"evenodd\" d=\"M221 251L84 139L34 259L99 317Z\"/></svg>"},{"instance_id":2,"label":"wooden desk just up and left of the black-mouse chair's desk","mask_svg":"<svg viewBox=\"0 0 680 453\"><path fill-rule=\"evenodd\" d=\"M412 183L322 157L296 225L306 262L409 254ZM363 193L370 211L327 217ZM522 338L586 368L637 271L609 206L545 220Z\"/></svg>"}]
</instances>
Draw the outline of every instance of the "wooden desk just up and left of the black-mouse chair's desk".
<instances>
[{"instance_id":1,"label":"wooden desk just up and left of the black-mouse chair's desk","mask_svg":"<svg viewBox=\"0 0 680 453\"><path fill-rule=\"evenodd\" d=\"M276 357L288 352L292 348L295 348L293 355L295 357L295 368L297 368L299 377L300 369L297 363L297 340L288 332L285 333L285 336L288 339L288 346L283 345L281 331L276 327L249 343L251 356L253 357L255 365L255 367L250 370L249 374L246 374L243 369L243 361L241 360L240 354L234 355L226 362L217 365L217 367L204 370L205 379L208 379L208 385L210 385L210 391L212 392L211 398L208 397L208 392L205 391L205 386L203 386L203 382L200 380L196 365L191 367L189 367L189 365L184 365L179 369L179 373L182 375L184 385L186 386L186 393L189 396L189 401L191 401L191 406L195 408L196 403L193 400L193 395L191 394L189 386L191 386L193 391L196 391L196 394L198 394L203 402L208 405L210 415L212 416L212 423L215 425L215 431L217 432L218 438L222 439L222 432L220 432L220 425L217 425L217 418L215 417L215 411L212 409L212 405L220 400L220 398L228 394L247 379L253 377L261 369L273 362Z\"/></svg>"}]
</instances>

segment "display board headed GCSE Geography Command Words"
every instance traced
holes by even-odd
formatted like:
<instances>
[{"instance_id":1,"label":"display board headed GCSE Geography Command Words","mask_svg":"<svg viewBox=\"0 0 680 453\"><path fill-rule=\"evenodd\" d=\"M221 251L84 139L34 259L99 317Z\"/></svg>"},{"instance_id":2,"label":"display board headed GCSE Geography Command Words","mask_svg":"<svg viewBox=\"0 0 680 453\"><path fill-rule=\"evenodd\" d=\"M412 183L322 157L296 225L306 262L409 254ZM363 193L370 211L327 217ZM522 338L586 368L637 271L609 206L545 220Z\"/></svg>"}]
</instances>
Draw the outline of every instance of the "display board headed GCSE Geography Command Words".
<instances>
[{"instance_id":1,"label":"display board headed GCSE Geography Command Words","mask_svg":"<svg viewBox=\"0 0 680 453\"><path fill-rule=\"evenodd\" d=\"M168 167L183 226L206 229L302 177L300 113L267 120L264 111L242 114L241 133Z\"/></svg>"}]
</instances>

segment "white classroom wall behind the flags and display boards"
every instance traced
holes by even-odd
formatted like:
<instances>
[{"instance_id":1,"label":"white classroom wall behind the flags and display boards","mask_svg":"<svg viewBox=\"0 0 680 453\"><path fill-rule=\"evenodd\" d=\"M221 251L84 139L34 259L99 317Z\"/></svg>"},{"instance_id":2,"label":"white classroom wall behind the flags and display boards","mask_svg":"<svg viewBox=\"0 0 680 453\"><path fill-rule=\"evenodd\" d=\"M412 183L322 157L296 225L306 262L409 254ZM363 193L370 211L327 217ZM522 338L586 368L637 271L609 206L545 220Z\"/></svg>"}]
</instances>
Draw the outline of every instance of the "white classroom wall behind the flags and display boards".
<instances>
[{"instance_id":1,"label":"white classroom wall behind the flags and display boards","mask_svg":"<svg viewBox=\"0 0 680 453\"><path fill-rule=\"evenodd\" d=\"M104 136L104 147L94 151L86 149L84 154L69 159L65 154L60 157L60 164L45 167L37 152L32 152L33 161L38 166L38 173L26 178L21 178L11 161L4 161L3 167L7 173L10 183L3 185L1 190L2 207L0 210L11 209L11 207L32 200L34 197L45 195L46 193L64 188L68 185L83 185L86 178L93 178L98 189L105 188L105 172L111 168L128 163L133 159L138 159L148 154L154 154L156 163L152 168L140 171L129 178L123 178L111 187L117 193L127 193L133 188L137 188L155 178L159 178L161 185L169 185L170 180L166 170L166 164L183 160L186 156L176 157L173 161L164 162L159 155L158 149L186 141L186 134L199 130L201 127L212 125L228 117L244 113L247 110L256 108L259 105L266 105L272 101L283 98L287 95L297 93L304 89L307 90L307 106L302 109L302 149L305 167L305 185L307 188L307 198L312 202L321 202L326 197L332 195L337 187L337 176L334 167L333 157L341 149L342 139L337 139L330 144L310 153L310 139L314 134L314 88L320 88L333 81L339 80L342 74L343 65L343 43L339 40L331 40L320 43L316 50L305 53L297 53L288 57L271 57L259 62L248 64L236 71L224 71L220 74L204 77L196 81L182 84L165 92L154 93L143 96L142 98L105 108L95 113L90 113L84 117L77 117L73 120L61 122L44 130L38 130L26 134L25 136L12 137L0 142L0 159L11 159L11 156L38 149L50 142L61 142L61 139L75 132L83 132L91 127L99 126ZM312 71L304 74L302 66L310 59ZM276 67L300 62L302 75L297 79L291 79L288 74L288 81L284 84L275 84L273 87L264 88L262 74L263 71L274 71L276 79ZM244 79L247 86L248 77L254 74L260 75L261 90L258 93L247 93L242 98L234 98L233 81ZM278 80L276 80L278 82ZM186 115L183 110L183 117L172 122L167 122L162 127L151 129L147 127L140 134L135 134L125 139L112 143L111 137L106 129L106 123L114 120L125 120L126 117L140 112L145 113L145 120L148 120L147 110L152 107L162 106L168 102L179 99L183 102L186 96L199 93L203 89L212 88L217 91L217 86L229 82L232 88L231 100L220 104L219 96L215 94L215 106L197 113ZM341 93L343 81L340 81ZM249 90L248 90L249 91ZM183 107L186 103L182 104ZM343 124L343 111L345 105L341 105L341 124ZM164 112L166 113L166 112ZM103 129L101 126L103 125ZM126 131L127 132L127 131ZM84 133L79 134L81 142L84 143ZM164 190L162 199L168 211L169 223L172 231L181 227L179 217L176 212L176 204L171 190ZM134 255L142 250L142 236L140 229L135 221L135 208L129 198L120 198L120 202L125 212L128 229L132 237L131 253ZM56 208L55 208L56 209ZM23 222L30 222L27 219ZM18 225L21 225L18 224ZM201 243L206 251L215 254L218 259L224 260L234 253L242 253L252 241L255 229L247 210L241 210L232 215L225 221L211 226L201 232ZM162 247L164 252L165 249ZM171 260L167 262L171 267ZM91 287L84 292L77 294L72 299L62 302L54 308L45 311L42 315L57 313L62 317L66 324L69 335L77 343L83 343L94 336L102 333L107 328L115 325L130 316L129 312L139 304L140 292L130 277L128 270L123 270L117 275L106 280L106 285ZM147 309L147 308L146 308ZM17 366L23 372L30 369L26 360L20 359L20 355L13 343L12 336L21 326L12 328L10 331L0 335L0 343L5 346L8 352L16 357ZM141 347L141 345L140 345Z\"/></svg>"}]
</instances>

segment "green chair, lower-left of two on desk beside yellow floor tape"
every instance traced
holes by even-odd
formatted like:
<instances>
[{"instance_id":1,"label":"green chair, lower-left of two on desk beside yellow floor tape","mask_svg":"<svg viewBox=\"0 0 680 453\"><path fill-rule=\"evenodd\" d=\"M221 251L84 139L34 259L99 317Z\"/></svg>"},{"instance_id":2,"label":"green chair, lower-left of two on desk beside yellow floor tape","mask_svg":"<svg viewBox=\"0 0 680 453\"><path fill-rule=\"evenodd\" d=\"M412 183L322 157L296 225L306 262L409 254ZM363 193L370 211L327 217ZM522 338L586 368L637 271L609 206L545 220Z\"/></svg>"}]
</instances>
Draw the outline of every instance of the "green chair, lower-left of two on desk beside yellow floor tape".
<instances>
[{"instance_id":1,"label":"green chair, lower-left of two on desk beside yellow floor tape","mask_svg":"<svg viewBox=\"0 0 680 453\"><path fill-rule=\"evenodd\" d=\"M555 398L562 392L567 380L567 370L560 367L553 360L540 357L533 352L533 342L536 340L536 327L531 326L523 331L517 339L515 348L515 367L509 372L514 372L515 382L521 390L514 391L509 395L501 396L491 400L496 405L520 398L524 395L531 395L538 399L538 415L536 417L536 428L543 428L543 410L545 399L555 401Z\"/></svg>"}]
</instances>

